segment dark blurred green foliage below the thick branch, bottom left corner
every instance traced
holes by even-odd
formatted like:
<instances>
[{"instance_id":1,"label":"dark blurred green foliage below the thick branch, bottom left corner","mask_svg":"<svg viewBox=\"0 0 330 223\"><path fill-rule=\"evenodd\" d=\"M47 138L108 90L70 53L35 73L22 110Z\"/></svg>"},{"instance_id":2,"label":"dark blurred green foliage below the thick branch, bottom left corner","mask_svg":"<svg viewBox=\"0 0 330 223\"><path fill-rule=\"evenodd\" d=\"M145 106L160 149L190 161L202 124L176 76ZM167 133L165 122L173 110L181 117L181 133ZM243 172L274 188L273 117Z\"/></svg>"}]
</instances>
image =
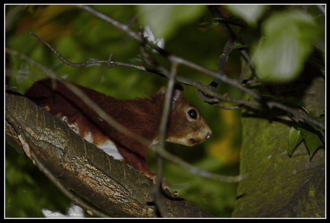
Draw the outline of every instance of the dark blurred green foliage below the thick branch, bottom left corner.
<instances>
[{"instance_id":1,"label":"dark blurred green foliage below the thick branch, bottom left corner","mask_svg":"<svg viewBox=\"0 0 330 223\"><path fill-rule=\"evenodd\" d=\"M5 146L5 217L40 218L46 208L66 214L71 201L32 161Z\"/></svg>"}]
</instances>

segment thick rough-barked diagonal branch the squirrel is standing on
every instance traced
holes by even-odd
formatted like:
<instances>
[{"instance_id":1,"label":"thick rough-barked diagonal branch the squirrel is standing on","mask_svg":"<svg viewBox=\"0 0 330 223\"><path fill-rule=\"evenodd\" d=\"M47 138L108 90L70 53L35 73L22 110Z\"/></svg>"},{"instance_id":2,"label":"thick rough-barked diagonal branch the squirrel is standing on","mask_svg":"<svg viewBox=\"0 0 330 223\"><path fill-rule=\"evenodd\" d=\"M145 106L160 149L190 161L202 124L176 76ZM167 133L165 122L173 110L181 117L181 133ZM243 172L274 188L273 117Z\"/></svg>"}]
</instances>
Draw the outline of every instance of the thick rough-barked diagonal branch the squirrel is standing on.
<instances>
[{"instance_id":1,"label":"thick rough-barked diagonal branch the squirrel is standing on","mask_svg":"<svg viewBox=\"0 0 330 223\"><path fill-rule=\"evenodd\" d=\"M114 217L159 217L149 178L89 144L18 93L6 92L5 109L18 121L29 146L65 186ZM5 130L6 142L20 150L10 123L6 122ZM170 217L212 217L168 191L161 202Z\"/></svg>"}]
</instances>

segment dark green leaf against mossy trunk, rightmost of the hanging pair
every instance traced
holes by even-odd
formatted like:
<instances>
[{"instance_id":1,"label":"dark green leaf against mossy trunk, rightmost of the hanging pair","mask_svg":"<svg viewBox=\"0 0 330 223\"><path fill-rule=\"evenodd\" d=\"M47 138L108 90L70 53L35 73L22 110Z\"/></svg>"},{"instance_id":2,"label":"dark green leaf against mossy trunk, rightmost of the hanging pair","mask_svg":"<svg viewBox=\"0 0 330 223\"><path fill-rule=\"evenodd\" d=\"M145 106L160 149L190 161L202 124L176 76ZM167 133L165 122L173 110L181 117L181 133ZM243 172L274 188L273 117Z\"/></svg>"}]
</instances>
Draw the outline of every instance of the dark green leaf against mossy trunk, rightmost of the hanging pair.
<instances>
[{"instance_id":1,"label":"dark green leaf against mossy trunk, rightmost of the hanging pair","mask_svg":"<svg viewBox=\"0 0 330 223\"><path fill-rule=\"evenodd\" d=\"M316 149L324 146L324 143L318 134L318 130L313 124L301 123L298 130L304 138L310 157L313 156Z\"/></svg>"}]
</instances>

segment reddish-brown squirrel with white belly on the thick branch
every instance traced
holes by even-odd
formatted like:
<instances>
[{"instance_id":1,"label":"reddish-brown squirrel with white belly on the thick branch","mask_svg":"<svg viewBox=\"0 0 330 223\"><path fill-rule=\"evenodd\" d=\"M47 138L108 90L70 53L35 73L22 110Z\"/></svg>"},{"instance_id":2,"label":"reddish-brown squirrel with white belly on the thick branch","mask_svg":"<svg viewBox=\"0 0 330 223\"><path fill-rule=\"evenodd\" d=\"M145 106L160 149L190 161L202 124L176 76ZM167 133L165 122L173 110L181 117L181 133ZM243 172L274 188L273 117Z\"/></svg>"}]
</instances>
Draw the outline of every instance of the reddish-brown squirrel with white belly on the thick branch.
<instances>
[{"instance_id":1,"label":"reddish-brown squirrel with white belly on the thick branch","mask_svg":"<svg viewBox=\"0 0 330 223\"><path fill-rule=\"evenodd\" d=\"M65 121L78 135L103 149L115 159L123 160L151 178L156 174L146 162L147 146L126 136L102 120L92 108L60 81L45 78L35 82L24 94L31 101ZM72 83L72 82L71 82ZM158 142L158 130L165 103L166 87L148 98L119 100L95 90L79 87L84 94L131 131ZM53 89L55 86L55 89ZM168 119L166 141L193 146L211 136L212 132L200 112L183 98L181 84L174 85L172 107ZM169 189L166 183L163 189Z\"/></svg>"}]
</instances>

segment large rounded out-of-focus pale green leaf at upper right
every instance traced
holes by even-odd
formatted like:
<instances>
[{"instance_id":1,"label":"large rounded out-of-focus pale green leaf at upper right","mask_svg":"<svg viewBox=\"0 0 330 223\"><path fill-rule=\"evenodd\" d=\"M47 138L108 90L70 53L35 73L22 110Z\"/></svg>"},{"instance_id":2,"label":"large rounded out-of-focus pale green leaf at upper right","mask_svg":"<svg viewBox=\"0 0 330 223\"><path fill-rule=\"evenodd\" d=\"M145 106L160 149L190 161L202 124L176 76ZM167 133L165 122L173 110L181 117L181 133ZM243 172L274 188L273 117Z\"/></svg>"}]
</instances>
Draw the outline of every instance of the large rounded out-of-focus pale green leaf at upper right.
<instances>
[{"instance_id":1,"label":"large rounded out-of-focus pale green leaf at upper right","mask_svg":"<svg viewBox=\"0 0 330 223\"><path fill-rule=\"evenodd\" d=\"M272 82L297 77L320 37L320 27L310 15L289 10L274 13L261 26L265 37L254 52L259 78Z\"/></svg>"}]
</instances>

